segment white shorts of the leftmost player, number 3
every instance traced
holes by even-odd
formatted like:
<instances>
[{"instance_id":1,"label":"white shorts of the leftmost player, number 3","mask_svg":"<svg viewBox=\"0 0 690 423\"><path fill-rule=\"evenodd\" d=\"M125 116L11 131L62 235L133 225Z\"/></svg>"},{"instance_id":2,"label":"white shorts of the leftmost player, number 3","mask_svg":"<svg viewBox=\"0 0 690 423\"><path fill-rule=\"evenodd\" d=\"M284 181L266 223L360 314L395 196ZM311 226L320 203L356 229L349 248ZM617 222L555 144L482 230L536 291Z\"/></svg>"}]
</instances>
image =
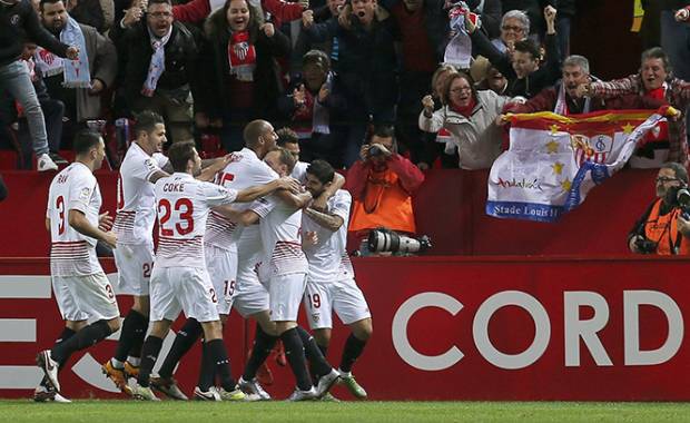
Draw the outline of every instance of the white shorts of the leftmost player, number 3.
<instances>
[{"instance_id":1,"label":"white shorts of the leftmost player, number 3","mask_svg":"<svg viewBox=\"0 0 690 423\"><path fill-rule=\"evenodd\" d=\"M52 276L52 291L66 321L109 321L120 316L115 292L103 273Z\"/></svg>"}]
</instances>

